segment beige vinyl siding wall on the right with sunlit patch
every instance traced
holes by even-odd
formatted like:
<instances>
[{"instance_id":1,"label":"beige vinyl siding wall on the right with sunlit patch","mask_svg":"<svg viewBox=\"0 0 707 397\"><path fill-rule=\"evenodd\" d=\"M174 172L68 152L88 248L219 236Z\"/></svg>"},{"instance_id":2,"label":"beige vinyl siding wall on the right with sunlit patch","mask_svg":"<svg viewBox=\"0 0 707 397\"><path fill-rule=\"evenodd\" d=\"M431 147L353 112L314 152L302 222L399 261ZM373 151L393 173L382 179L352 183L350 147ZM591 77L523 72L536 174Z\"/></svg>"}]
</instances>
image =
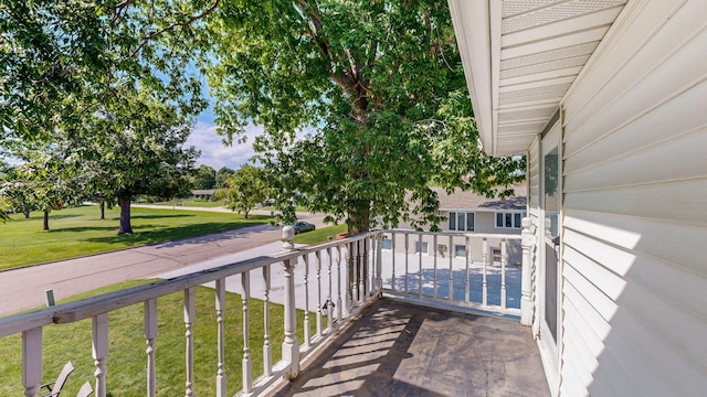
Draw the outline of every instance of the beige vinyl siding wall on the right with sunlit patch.
<instances>
[{"instance_id":1,"label":"beige vinyl siding wall on the right with sunlit patch","mask_svg":"<svg viewBox=\"0 0 707 397\"><path fill-rule=\"evenodd\" d=\"M562 396L707 389L705 15L629 2L563 100Z\"/></svg>"}]
</instances>

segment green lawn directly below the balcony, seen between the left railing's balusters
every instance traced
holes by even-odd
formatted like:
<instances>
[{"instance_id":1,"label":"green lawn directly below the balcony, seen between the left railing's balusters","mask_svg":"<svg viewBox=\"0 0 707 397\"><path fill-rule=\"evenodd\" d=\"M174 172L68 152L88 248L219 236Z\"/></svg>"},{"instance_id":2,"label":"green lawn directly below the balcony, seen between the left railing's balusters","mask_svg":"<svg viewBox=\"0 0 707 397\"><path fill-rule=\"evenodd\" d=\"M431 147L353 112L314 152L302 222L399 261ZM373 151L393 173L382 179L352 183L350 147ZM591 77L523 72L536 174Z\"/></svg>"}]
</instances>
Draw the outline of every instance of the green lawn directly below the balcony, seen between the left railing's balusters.
<instances>
[{"instance_id":1,"label":"green lawn directly below the balcony, seen between the left railing's balusters","mask_svg":"<svg viewBox=\"0 0 707 397\"><path fill-rule=\"evenodd\" d=\"M143 281L144 282L144 281ZM122 283L127 288L140 281ZM108 292L116 286L93 291L85 296ZM84 297L85 297L84 296ZM77 299L78 297L74 297ZM194 395L215 395L218 363L217 318L214 291L207 287L197 288L197 321L194 335ZM249 345L254 377L263 368L263 301L249 301ZM156 365L158 396L178 396L184 393L184 323L183 293L176 292L158 299L158 335L156 339ZM279 304L271 309L271 346L273 363L281 360L284 340L284 310ZM243 337L242 301L235 293L226 293L224 312L225 326L225 373L228 393L234 395L242 388ZM315 331L314 315L310 315L312 334ZM297 311L297 337L304 339L304 312ZM145 396L146 354L144 336L143 305L137 304L116 310L108 315L109 341L107 358L108 396ZM62 395L75 396L81 385L94 379L95 371L91 356L91 320L71 324L51 324L43 329L43 377L53 380L62 366L72 361L76 371L68 377ZM22 389L22 343L19 334L0 339L0 396L21 396ZM46 382L46 380L43 380Z\"/></svg>"}]
</instances>

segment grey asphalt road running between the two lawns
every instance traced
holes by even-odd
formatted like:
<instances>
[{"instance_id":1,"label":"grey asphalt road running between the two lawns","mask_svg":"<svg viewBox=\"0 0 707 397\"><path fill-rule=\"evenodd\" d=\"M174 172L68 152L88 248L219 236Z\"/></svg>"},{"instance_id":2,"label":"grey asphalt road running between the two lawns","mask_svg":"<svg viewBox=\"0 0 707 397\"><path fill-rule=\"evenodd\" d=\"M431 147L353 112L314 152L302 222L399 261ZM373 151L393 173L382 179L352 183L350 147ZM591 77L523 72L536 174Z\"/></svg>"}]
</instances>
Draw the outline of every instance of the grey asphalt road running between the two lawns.
<instances>
[{"instance_id":1,"label":"grey asphalt road running between the two lawns","mask_svg":"<svg viewBox=\"0 0 707 397\"><path fill-rule=\"evenodd\" d=\"M165 208L161 206L161 208ZM209 211L209 208L179 207ZM221 208L211 208L221 211ZM225 210L228 211L228 210ZM323 215L298 214L323 226ZM261 225L201 237L184 238L76 259L0 272L0 316L45 304L45 290L56 300L109 285L155 277L223 255L256 248L281 239L277 227Z\"/></svg>"}]
</instances>

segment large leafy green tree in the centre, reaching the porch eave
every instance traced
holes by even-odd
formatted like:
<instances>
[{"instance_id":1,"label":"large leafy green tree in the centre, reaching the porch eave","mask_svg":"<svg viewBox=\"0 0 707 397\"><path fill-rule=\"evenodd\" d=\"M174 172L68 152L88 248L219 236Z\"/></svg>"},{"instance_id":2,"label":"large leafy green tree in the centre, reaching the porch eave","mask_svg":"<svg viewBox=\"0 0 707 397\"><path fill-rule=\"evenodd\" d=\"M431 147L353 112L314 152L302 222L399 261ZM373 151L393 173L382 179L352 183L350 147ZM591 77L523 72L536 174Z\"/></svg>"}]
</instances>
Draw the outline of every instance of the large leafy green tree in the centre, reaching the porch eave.
<instances>
[{"instance_id":1,"label":"large leafy green tree in the centre, reaching the porch eave","mask_svg":"<svg viewBox=\"0 0 707 397\"><path fill-rule=\"evenodd\" d=\"M207 25L219 131L264 126L281 207L296 196L351 232L377 215L435 225L431 184L503 195L523 178L479 149L445 2L242 0Z\"/></svg>"}]
</instances>

